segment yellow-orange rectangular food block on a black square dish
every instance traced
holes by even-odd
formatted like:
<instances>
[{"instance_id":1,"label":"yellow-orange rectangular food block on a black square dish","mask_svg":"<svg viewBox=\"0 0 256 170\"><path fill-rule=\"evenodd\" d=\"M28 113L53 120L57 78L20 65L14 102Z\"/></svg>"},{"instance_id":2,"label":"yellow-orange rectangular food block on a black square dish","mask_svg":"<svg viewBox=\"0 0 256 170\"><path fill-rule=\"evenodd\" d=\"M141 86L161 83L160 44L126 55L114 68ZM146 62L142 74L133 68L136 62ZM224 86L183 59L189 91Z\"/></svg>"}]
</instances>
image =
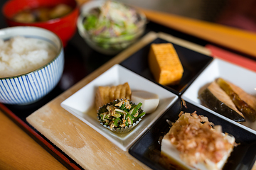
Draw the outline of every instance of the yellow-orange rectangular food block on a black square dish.
<instances>
[{"instance_id":1,"label":"yellow-orange rectangular food block on a black square dish","mask_svg":"<svg viewBox=\"0 0 256 170\"><path fill-rule=\"evenodd\" d=\"M152 44L149 68L154 79L163 85L176 85L183 76L183 67L171 43Z\"/></svg>"}]
</instances>

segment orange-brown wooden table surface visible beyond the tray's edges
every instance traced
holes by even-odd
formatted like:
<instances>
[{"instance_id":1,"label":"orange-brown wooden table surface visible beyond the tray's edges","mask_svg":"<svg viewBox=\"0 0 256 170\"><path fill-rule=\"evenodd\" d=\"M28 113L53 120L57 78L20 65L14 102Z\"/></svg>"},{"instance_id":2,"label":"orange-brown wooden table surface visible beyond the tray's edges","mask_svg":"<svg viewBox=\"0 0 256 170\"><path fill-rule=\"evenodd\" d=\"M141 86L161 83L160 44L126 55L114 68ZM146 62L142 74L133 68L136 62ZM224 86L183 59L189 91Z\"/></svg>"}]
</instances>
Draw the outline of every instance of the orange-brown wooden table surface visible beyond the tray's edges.
<instances>
[{"instance_id":1,"label":"orange-brown wooden table surface visible beyond the tray's edges","mask_svg":"<svg viewBox=\"0 0 256 170\"><path fill-rule=\"evenodd\" d=\"M256 57L254 33L156 11L143 11L152 21ZM0 169L66 169L1 110L0 136Z\"/></svg>"}]
</instances>

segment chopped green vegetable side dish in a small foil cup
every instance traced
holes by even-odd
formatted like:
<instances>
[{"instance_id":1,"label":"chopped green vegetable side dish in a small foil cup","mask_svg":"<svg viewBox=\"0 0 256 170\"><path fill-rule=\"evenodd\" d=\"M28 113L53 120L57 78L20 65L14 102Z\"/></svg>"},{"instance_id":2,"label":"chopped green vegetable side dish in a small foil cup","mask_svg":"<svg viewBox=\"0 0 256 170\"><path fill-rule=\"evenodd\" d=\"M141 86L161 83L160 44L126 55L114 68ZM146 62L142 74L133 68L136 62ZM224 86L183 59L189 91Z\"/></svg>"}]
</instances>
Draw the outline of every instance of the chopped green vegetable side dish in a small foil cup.
<instances>
[{"instance_id":1,"label":"chopped green vegetable side dish in a small foil cup","mask_svg":"<svg viewBox=\"0 0 256 170\"><path fill-rule=\"evenodd\" d=\"M102 106L97 113L97 118L112 132L129 132L146 114L141 106L142 103L136 105L127 99L118 99Z\"/></svg>"}]
</instances>

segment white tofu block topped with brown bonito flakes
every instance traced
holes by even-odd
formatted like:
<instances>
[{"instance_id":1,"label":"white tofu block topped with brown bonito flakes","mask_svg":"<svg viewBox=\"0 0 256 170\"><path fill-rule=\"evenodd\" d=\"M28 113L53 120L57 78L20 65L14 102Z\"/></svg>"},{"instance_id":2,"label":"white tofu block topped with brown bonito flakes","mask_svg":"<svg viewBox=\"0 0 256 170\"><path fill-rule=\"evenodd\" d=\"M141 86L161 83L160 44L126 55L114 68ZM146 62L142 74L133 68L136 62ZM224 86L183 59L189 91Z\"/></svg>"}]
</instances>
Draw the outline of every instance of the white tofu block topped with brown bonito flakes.
<instances>
[{"instance_id":1,"label":"white tofu block topped with brown bonito flakes","mask_svg":"<svg viewBox=\"0 0 256 170\"><path fill-rule=\"evenodd\" d=\"M203 123L201 123L203 122ZM227 162L235 137L212 128L208 118L183 113L161 141L164 166L175 164L183 169L219 170Z\"/></svg>"}]
</instances>

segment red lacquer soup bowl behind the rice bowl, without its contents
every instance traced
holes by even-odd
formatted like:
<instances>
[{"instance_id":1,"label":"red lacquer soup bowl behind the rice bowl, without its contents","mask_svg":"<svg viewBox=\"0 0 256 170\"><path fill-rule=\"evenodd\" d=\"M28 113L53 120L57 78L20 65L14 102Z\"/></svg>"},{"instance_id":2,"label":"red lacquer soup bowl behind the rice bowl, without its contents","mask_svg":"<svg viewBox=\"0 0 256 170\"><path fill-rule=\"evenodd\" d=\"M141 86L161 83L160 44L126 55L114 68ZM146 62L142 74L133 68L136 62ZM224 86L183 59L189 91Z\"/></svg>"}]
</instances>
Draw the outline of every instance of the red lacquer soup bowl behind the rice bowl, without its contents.
<instances>
[{"instance_id":1,"label":"red lacquer soup bowl behind the rice bowl, without its contents","mask_svg":"<svg viewBox=\"0 0 256 170\"><path fill-rule=\"evenodd\" d=\"M59 4L65 4L71 7L71 11L65 14L65 16L53 18L48 21L23 22L14 20L14 16L21 11L47 6L53 7ZM36 26L46 28L57 34L65 46L76 32L79 8L75 0L10 0L4 4L2 13L8 26Z\"/></svg>"}]
</instances>

